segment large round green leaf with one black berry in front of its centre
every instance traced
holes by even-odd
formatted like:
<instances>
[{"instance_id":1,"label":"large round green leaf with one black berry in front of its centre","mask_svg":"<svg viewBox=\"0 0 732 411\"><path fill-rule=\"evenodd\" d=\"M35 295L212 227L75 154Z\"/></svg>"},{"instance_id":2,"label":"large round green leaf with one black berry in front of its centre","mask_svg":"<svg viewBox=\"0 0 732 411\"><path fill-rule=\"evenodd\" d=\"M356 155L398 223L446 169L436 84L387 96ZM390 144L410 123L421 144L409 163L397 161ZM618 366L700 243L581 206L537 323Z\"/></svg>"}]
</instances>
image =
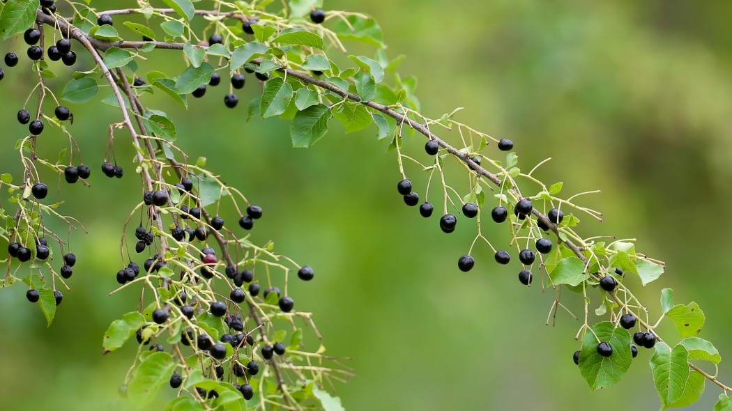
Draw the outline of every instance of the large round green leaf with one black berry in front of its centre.
<instances>
[{"instance_id":1,"label":"large round green leaf with one black berry in front of its centre","mask_svg":"<svg viewBox=\"0 0 732 411\"><path fill-rule=\"evenodd\" d=\"M632 355L630 352L630 333L613 323L603 321L592 326L593 333L586 333L582 339L580 352L580 373L585 378L590 390L607 387L619 382L630 368ZM597 352L597 338L609 342L613 347L613 355L603 357Z\"/></svg>"}]
</instances>

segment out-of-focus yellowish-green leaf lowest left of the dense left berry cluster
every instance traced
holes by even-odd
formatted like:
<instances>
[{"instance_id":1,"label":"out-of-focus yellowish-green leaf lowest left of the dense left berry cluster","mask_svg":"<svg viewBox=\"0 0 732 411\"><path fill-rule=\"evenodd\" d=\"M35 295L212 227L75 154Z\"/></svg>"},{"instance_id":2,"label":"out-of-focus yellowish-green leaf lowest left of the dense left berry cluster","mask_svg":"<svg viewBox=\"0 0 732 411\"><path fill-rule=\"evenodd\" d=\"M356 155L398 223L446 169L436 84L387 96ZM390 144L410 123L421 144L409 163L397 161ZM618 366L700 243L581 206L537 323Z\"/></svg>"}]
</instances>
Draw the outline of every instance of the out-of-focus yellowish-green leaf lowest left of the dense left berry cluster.
<instances>
[{"instance_id":1,"label":"out-of-focus yellowish-green leaf lowest left of the dense left berry cluster","mask_svg":"<svg viewBox=\"0 0 732 411\"><path fill-rule=\"evenodd\" d=\"M176 363L168 352L153 352L145 358L127 385L127 396L138 408L149 404L171 378Z\"/></svg>"}]
</instances>

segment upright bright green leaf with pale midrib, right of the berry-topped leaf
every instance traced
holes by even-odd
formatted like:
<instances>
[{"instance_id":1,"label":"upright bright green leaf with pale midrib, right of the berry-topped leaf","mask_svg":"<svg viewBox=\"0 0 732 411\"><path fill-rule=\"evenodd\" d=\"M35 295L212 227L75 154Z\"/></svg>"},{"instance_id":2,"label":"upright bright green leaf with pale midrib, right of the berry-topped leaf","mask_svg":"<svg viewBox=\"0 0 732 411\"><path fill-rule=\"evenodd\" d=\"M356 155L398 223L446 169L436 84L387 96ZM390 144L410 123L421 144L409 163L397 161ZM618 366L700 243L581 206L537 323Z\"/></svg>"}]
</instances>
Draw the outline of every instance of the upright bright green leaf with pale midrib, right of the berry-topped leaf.
<instances>
[{"instance_id":1,"label":"upright bright green leaf with pale midrib, right of the berry-topped leaf","mask_svg":"<svg viewBox=\"0 0 732 411\"><path fill-rule=\"evenodd\" d=\"M679 344L668 347L665 342L656 344L656 353L651 357L651 372L658 396L663 407L668 408L674 401L681 399L689 379L689 352Z\"/></svg>"}]
</instances>

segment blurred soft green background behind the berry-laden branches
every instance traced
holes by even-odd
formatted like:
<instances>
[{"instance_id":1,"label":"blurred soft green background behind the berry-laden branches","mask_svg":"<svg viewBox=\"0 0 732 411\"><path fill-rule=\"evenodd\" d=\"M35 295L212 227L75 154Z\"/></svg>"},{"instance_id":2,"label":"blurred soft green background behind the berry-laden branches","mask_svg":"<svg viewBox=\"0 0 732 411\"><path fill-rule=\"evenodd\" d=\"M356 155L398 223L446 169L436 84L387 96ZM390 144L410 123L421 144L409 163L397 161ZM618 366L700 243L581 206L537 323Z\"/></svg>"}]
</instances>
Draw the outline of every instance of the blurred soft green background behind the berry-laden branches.
<instances>
[{"instance_id":1,"label":"blurred soft green background behind the berry-laden branches","mask_svg":"<svg viewBox=\"0 0 732 411\"><path fill-rule=\"evenodd\" d=\"M134 6L97 7L102 3ZM697 301L707 320L700 336L722 358L730 355L732 3L342 0L326 1L328 9L377 18L390 55L408 55L400 72L419 78L425 115L465 107L458 119L512 139L524 170L552 157L537 174L546 183L564 181L564 194L602 190L583 204L600 209L605 222L585 218L580 233L638 238L641 252L667 263L665 276L643 290L630 280L641 300L654 314L662 287L673 287L678 303ZM21 53L18 46L23 59ZM163 71L179 72L181 57L169 52L163 59ZM90 68L88 59L80 61L76 69ZM7 148L26 133L15 112L34 84L21 66L28 67L7 68L0 82L1 172L16 178L20 162ZM60 91L70 72L54 67L60 78L49 84ZM474 252L473 271L458 271L474 225L460 217L458 230L444 235L436 217L422 219L404 206L395 191L395 154L384 152L373 126L346 135L331 121L313 148L291 148L288 121L245 124L247 102L259 91L251 80L234 111L221 104L221 87L190 99L188 113L158 96L148 104L160 102L155 108L173 116L182 148L206 156L210 170L263 206L255 241L272 239L279 252L315 268L315 281L291 285L291 294L299 309L315 312L328 352L355 358L350 364L359 377L337 386L347 410L657 407L651 352L641 350L618 385L591 393L571 360L580 324L560 312L556 327L545 325L553 293L520 287L518 263L498 266L485 247ZM72 235L79 263L51 328L22 284L0 292L1 410L128 408L117 387L134 344L102 357L101 337L136 304L135 291L107 294L116 287L119 237L138 202L138 177L121 131L116 151L125 177L100 173L116 111L71 107L70 130L92 165L92 187L61 184L60 199L90 234ZM55 158L63 140L47 130L41 154ZM423 144L423 137L406 138L404 151L426 161ZM485 153L502 155L494 146ZM408 173L425 186L426 176ZM49 186L55 192L59 184ZM503 247L507 236L498 228L505 227L486 225L485 233ZM564 298L579 312L577 295ZM676 342L676 331L661 331ZM730 363L720 364L720 380L728 383ZM720 393L708 383L690 409L709 410Z\"/></svg>"}]
</instances>

